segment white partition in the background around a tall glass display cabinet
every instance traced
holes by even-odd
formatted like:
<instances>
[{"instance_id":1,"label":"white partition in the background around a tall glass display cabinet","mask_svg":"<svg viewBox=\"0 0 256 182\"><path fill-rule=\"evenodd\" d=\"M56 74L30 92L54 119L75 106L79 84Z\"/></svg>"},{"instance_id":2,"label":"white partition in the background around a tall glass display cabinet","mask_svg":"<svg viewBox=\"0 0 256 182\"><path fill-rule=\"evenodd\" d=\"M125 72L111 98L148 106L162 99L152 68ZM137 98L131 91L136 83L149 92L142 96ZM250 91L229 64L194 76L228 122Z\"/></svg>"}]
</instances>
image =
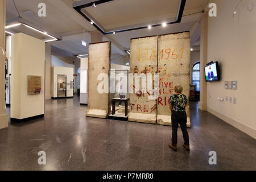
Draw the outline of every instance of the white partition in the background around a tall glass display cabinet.
<instances>
[{"instance_id":1,"label":"white partition in the background around a tall glass display cabinet","mask_svg":"<svg viewBox=\"0 0 256 182\"><path fill-rule=\"evenodd\" d=\"M51 94L52 97L57 98L57 75L67 75L67 84L73 81L74 68L67 67L52 67L51 71ZM73 89L67 85L67 97L73 97Z\"/></svg>"}]
</instances>

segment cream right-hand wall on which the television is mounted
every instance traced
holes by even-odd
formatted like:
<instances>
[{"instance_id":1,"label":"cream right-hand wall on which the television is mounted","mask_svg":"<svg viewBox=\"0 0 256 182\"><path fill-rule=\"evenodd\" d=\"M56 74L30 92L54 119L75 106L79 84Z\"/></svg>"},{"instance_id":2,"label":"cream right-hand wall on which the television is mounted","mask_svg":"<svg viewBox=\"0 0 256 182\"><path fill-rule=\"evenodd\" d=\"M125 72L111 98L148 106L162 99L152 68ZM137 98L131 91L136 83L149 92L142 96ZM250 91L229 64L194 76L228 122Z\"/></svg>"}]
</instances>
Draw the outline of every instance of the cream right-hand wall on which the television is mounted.
<instances>
[{"instance_id":1,"label":"cream right-hand wall on which the television is mounted","mask_svg":"<svg viewBox=\"0 0 256 182\"><path fill-rule=\"evenodd\" d=\"M256 138L256 23L234 22L240 0L212 2L217 4L217 17L208 18L208 61L220 63L221 81L207 83L208 111ZM226 90L224 82L233 80L237 90ZM226 96L236 97L237 104L217 100Z\"/></svg>"}]
</instances>

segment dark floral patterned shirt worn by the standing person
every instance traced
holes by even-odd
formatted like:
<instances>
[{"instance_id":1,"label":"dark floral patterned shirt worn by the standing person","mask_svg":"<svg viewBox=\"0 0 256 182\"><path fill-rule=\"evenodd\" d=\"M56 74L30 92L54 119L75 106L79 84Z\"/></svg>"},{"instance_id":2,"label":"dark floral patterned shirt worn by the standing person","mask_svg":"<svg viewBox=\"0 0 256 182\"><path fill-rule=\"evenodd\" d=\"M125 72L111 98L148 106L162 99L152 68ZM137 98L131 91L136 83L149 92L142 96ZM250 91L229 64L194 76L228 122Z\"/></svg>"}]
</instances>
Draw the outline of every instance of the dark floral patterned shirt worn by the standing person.
<instances>
[{"instance_id":1,"label":"dark floral patterned shirt worn by the standing person","mask_svg":"<svg viewBox=\"0 0 256 182\"><path fill-rule=\"evenodd\" d=\"M185 111L185 105L188 103L187 96L184 94L174 94L170 97L169 103L172 105L172 111Z\"/></svg>"}]
</instances>

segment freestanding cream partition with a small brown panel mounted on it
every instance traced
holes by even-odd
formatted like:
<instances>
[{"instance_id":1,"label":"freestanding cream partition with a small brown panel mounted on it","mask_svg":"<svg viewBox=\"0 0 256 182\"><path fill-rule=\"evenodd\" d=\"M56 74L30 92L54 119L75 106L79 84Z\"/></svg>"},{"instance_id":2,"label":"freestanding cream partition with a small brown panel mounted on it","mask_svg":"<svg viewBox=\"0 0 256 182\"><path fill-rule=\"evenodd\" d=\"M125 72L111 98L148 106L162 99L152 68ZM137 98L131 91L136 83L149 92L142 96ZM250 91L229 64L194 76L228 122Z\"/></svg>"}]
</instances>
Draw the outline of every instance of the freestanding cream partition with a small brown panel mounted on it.
<instances>
[{"instance_id":1,"label":"freestanding cream partition with a small brown panel mounted on it","mask_svg":"<svg viewBox=\"0 0 256 182\"><path fill-rule=\"evenodd\" d=\"M42 40L26 34L12 36L11 118L23 119L44 114L44 52ZM28 95L27 76L41 76L42 92Z\"/></svg>"}]
</instances>

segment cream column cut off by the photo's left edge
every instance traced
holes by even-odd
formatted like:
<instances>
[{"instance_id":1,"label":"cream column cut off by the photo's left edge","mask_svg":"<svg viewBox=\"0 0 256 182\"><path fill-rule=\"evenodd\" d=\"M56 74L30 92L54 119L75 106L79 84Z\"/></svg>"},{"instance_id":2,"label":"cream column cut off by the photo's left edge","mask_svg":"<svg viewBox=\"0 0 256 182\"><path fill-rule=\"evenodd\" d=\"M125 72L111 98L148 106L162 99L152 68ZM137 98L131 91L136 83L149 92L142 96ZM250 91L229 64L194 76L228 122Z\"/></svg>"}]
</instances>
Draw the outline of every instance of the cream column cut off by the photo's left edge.
<instances>
[{"instance_id":1,"label":"cream column cut off by the photo's left edge","mask_svg":"<svg viewBox=\"0 0 256 182\"><path fill-rule=\"evenodd\" d=\"M5 51L5 0L0 1L0 47ZM8 115L5 114L5 55L0 50L0 129L8 127Z\"/></svg>"}]
</instances>

